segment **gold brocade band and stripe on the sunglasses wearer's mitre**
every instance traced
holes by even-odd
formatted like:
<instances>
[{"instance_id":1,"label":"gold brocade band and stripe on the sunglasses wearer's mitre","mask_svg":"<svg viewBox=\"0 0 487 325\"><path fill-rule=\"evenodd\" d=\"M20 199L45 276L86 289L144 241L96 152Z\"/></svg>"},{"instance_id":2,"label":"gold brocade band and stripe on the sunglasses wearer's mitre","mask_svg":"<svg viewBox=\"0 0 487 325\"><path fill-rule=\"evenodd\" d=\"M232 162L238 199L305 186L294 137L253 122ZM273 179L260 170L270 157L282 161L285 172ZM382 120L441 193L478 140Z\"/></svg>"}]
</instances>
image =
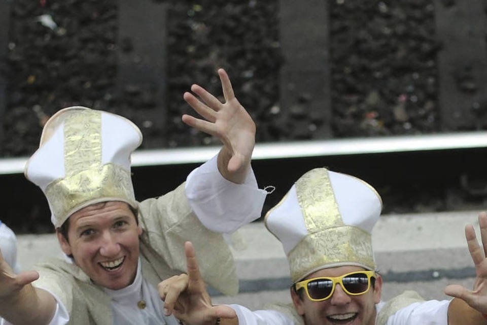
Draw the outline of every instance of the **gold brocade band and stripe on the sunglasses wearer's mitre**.
<instances>
[{"instance_id":1,"label":"gold brocade band and stripe on the sunglasses wearer's mitre","mask_svg":"<svg viewBox=\"0 0 487 325\"><path fill-rule=\"evenodd\" d=\"M324 266L353 262L375 269L371 236L343 223L326 169L304 174L296 182L296 193L308 235L288 253L293 282Z\"/></svg>"}]
</instances>

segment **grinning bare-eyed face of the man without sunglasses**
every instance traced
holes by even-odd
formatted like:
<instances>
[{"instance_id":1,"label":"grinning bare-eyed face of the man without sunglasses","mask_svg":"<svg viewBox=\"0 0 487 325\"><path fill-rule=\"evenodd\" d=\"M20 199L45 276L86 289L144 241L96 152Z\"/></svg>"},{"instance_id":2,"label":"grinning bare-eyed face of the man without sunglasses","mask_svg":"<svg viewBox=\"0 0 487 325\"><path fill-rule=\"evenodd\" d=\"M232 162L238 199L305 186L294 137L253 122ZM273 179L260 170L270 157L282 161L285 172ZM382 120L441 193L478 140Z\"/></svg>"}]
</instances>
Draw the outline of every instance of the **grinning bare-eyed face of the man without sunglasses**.
<instances>
[{"instance_id":1,"label":"grinning bare-eyed face of the man without sunglasses","mask_svg":"<svg viewBox=\"0 0 487 325\"><path fill-rule=\"evenodd\" d=\"M129 285L140 255L142 229L129 206L120 201L90 205L69 217L69 231L58 232L64 253L76 256L76 264L94 283L112 290Z\"/></svg>"}]
</instances>

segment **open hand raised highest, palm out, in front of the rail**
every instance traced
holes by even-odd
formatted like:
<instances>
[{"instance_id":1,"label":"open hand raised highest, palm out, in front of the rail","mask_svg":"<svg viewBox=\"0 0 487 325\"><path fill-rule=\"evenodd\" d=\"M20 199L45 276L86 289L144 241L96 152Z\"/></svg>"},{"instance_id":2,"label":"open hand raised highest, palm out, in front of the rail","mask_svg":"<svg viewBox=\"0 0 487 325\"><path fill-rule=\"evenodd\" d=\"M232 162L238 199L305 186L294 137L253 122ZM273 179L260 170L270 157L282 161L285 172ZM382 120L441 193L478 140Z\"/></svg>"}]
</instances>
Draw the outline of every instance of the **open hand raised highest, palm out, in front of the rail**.
<instances>
[{"instance_id":1,"label":"open hand raised highest, palm out, in front of the rail","mask_svg":"<svg viewBox=\"0 0 487 325\"><path fill-rule=\"evenodd\" d=\"M227 73L218 70L225 103L198 85L192 85L192 93L185 92L184 100L204 119L183 115L183 122L202 132L217 137L223 143L218 167L226 179L242 183L250 167L255 145L255 123L249 113L235 98Z\"/></svg>"}]
</instances>

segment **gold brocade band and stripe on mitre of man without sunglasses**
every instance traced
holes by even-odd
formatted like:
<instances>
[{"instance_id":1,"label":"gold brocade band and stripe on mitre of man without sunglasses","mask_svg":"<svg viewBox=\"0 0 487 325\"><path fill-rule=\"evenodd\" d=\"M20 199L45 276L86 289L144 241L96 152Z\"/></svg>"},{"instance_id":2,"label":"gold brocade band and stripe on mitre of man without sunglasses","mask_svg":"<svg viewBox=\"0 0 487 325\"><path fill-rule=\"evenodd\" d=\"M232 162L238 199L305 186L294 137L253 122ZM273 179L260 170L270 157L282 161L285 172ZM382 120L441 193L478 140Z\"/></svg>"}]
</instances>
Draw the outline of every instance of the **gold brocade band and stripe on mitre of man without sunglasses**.
<instances>
[{"instance_id":1,"label":"gold brocade band and stripe on mitre of man without sunglasses","mask_svg":"<svg viewBox=\"0 0 487 325\"><path fill-rule=\"evenodd\" d=\"M101 165L101 112L81 111L64 122L65 177L50 183L45 194L58 227L89 204L117 200L135 206L130 172Z\"/></svg>"}]
</instances>

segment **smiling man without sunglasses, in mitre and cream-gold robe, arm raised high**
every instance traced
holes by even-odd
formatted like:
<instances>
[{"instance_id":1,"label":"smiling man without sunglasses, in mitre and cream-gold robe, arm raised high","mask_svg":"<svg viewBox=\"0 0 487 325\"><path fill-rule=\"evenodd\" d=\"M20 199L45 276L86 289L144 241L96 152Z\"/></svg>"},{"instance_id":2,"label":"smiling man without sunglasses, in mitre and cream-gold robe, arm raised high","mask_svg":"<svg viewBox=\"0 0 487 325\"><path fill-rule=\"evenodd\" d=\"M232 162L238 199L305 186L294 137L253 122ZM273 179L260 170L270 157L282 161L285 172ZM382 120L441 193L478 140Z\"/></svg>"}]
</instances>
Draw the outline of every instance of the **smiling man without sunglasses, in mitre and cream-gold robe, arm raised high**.
<instances>
[{"instance_id":1,"label":"smiling man without sunglasses, in mitre and cream-gold robe, arm raised high","mask_svg":"<svg viewBox=\"0 0 487 325\"><path fill-rule=\"evenodd\" d=\"M203 278L225 294L238 280L221 233L260 216L266 192L250 166L255 124L218 71L225 102L198 85L184 94L204 119L183 121L223 142L219 154L159 198L137 202L130 155L140 129L109 112L63 109L46 123L26 177L44 192L62 251L15 274L0 253L2 324L178 324L156 286L184 272L183 244L203 253ZM155 180L163 182L163 180ZM34 281L34 282L33 282Z\"/></svg>"}]
</instances>

